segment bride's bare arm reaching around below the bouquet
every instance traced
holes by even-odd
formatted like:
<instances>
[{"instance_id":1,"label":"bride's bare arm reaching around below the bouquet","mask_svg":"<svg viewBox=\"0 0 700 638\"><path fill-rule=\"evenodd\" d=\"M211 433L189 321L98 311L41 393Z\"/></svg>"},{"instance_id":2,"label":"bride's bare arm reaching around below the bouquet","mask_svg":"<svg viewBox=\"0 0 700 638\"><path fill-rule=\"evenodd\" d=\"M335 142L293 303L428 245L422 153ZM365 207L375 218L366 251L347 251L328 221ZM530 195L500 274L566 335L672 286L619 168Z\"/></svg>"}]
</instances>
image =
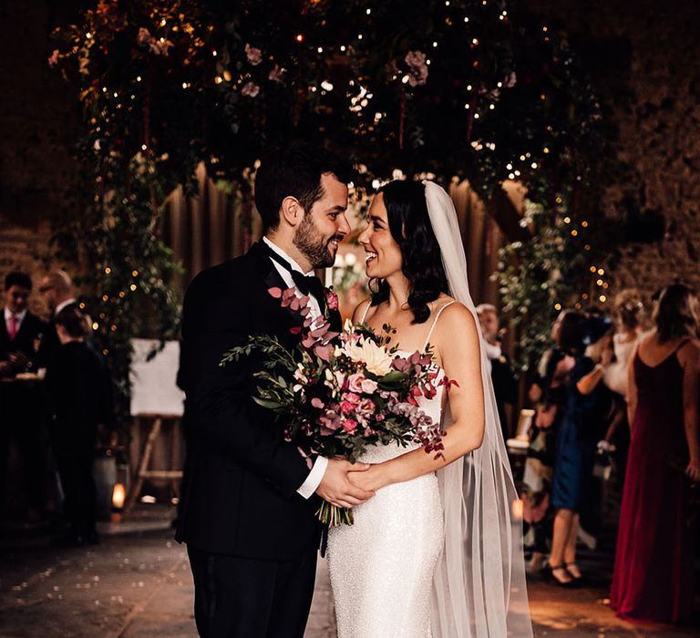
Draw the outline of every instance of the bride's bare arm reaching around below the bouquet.
<instances>
[{"instance_id":1,"label":"bride's bare arm reaching around below the bouquet","mask_svg":"<svg viewBox=\"0 0 700 638\"><path fill-rule=\"evenodd\" d=\"M461 304L453 304L440 316L432 342L442 358L449 379L458 382L449 390L452 425L443 438L442 457L427 454L423 448L373 465L365 472L351 475L363 489L376 490L391 483L417 478L446 465L473 449L484 438L484 390L481 383L481 356L478 327L472 314Z\"/></svg>"}]
</instances>

